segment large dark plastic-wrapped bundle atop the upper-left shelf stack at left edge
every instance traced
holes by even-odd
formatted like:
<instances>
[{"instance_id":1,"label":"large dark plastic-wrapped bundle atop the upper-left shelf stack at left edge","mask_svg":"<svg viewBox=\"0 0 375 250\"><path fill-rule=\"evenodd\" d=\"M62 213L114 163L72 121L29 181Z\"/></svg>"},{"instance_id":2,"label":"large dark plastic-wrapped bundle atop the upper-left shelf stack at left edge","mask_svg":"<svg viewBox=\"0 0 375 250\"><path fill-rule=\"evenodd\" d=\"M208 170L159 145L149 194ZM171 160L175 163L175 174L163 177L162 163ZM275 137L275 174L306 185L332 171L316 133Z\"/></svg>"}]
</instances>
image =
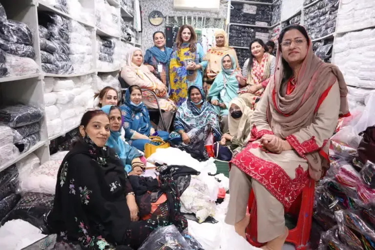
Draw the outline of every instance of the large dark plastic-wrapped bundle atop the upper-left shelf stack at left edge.
<instances>
[{"instance_id":1,"label":"large dark plastic-wrapped bundle atop the upper-left shelf stack at left edge","mask_svg":"<svg viewBox=\"0 0 375 250\"><path fill-rule=\"evenodd\" d=\"M8 20L0 22L0 38L8 42L33 44L33 34L30 28L20 21Z\"/></svg>"}]
</instances>

